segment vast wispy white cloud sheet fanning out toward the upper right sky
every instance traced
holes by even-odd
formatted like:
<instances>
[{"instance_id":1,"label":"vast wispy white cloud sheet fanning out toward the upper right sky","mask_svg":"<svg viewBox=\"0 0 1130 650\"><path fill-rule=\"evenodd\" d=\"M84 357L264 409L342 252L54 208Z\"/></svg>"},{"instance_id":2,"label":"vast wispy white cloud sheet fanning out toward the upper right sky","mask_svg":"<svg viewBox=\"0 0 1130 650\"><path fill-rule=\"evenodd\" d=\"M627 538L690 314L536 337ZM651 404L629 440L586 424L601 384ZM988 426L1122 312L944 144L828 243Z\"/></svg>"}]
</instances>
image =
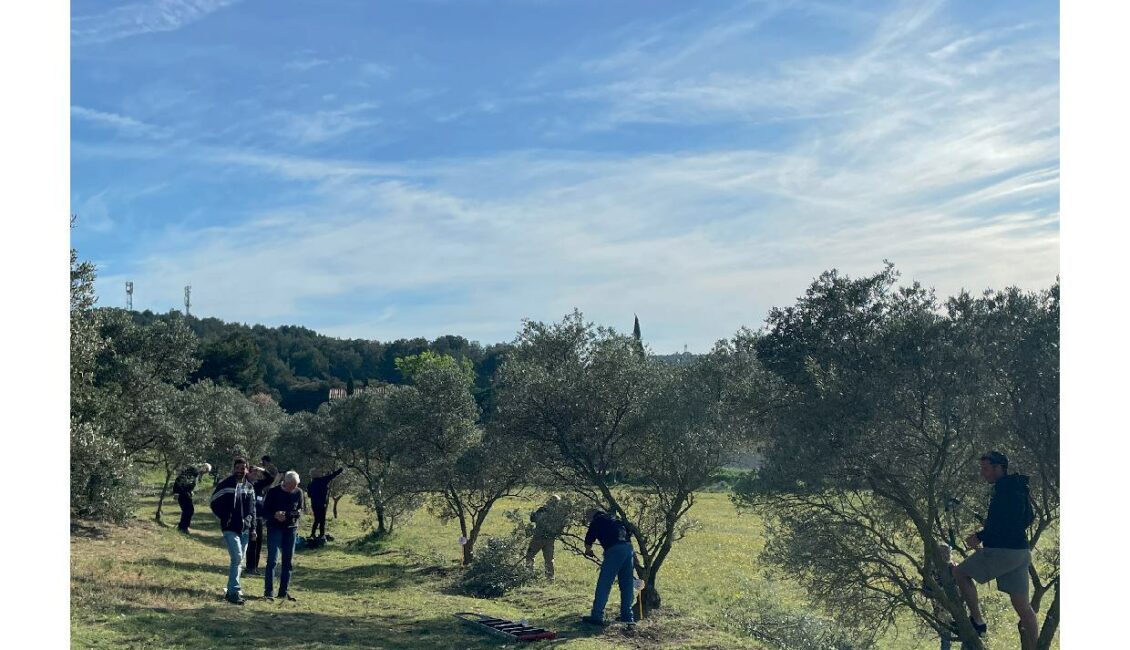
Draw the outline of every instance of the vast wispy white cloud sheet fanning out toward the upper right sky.
<instances>
[{"instance_id":1,"label":"vast wispy white cloud sheet fanning out toward the upper right sky","mask_svg":"<svg viewBox=\"0 0 1130 650\"><path fill-rule=\"evenodd\" d=\"M680 9L606 32L525 84L412 80L445 92L408 115L411 87L377 106L349 89L359 67L334 66L349 70L316 88L322 103L257 116L246 140L77 142L79 161L288 192L259 203L273 197L232 190L234 216L207 227L169 219L134 249L147 257L99 283L114 295L136 280L136 304L162 311L191 283L200 313L377 339L496 341L574 306L625 327L635 312L658 352L757 327L828 268L866 274L889 259L942 295L1046 287L1059 267L1054 20L951 9ZM779 47L781 20L817 36ZM390 88L401 77L374 72ZM495 123L505 132L467 130ZM377 124L443 146L383 151Z\"/></svg>"}]
</instances>

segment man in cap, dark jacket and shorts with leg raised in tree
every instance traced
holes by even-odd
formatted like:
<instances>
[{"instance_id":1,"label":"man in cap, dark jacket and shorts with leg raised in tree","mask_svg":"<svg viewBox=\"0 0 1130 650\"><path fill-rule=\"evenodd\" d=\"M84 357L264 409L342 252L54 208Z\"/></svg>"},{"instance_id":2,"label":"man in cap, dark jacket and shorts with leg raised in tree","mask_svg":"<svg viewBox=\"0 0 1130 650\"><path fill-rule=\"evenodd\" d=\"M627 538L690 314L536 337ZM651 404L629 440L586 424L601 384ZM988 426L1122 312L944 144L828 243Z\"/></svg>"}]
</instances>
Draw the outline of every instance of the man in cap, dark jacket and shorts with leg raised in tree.
<instances>
[{"instance_id":1,"label":"man in cap, dark jacket and shorts with leg raised in tree","mask_svg":"<svg viewBox=\"0 0 1130 650\"><path fill-rule=\"evenodd\" d=\"M997 579L997 589L1008 593L1020 617L1020 648L1034 650L1038 634L1036 613L1028 601L1027 528L1033 521L1028 477L1008 473L1008 457L990 451L981 457L981 477L993 486L984 528L965 538L973 555L954 567L954 579L970 606L970 618L977 634L988 630L977 604L974 580L984 583ZM980 547L980 548L979 548Z\"/></svg>"}]
</instances>

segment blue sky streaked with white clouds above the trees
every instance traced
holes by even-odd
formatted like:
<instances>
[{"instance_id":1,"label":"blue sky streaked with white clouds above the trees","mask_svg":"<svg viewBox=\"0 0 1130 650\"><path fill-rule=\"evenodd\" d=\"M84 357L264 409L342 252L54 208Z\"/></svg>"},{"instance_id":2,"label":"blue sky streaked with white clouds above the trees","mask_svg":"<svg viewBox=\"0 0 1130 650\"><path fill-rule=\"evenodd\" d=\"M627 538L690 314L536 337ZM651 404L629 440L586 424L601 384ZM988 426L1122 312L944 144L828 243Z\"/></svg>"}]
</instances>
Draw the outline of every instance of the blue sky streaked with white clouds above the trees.
<instances>
[{"instance_id":1,"label":"blue sky streaked with white clouds above the trees","mask_svg":"<svg viewBox=\"0 0 1130 650\"><path fill-rule=\"evenodd\" d=\"M989 7L985 7L988 5ZM71 3L72 244L101 304L659 353L828 268L1059 272L1055 2Z\"/></svg>"}]
</instances>

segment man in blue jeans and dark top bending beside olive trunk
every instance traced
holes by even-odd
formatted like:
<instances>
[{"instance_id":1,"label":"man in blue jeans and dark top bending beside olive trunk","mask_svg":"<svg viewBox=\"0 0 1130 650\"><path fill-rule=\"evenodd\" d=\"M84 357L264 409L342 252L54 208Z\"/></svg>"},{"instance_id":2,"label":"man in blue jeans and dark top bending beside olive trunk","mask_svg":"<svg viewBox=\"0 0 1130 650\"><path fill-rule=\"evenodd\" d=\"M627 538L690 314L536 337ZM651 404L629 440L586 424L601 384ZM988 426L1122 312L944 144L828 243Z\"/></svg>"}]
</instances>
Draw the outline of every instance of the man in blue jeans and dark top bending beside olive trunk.
<instances>
[{"instance_id":1,"label":"man in blue jeans and dark top bending beside olive trunk","mask_svg":"<svg viewBox=\"0 0 1130 650\"><path fill-rule=\"evenodd\" d=\"M635 549L628 540L628 531L624 523L612 519L600 510L589 513L589 531L584 536L584 554L593 557L592 543L600 540L605 557L600 563L600 575L597 578L597 593L592 597L592 612L581 618L590 625L605 625L605 605L612 591L612 581L620 586L620 623L635 624L632 615L632 600L635 596Z\"/></svg>"}]
</instances>

